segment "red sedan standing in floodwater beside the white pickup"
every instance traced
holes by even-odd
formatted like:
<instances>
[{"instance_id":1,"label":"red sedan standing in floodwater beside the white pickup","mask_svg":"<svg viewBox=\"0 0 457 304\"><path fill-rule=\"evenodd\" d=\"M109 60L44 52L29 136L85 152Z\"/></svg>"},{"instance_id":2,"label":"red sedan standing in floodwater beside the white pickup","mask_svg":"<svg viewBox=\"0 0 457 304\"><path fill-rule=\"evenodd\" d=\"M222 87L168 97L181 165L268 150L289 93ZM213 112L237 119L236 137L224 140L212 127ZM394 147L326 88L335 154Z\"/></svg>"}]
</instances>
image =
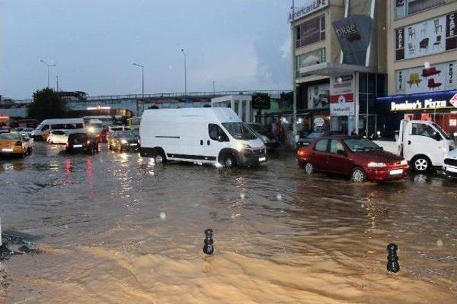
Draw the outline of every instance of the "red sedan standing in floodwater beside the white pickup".
<instances>
[{"instance_id":1,"label":"red sedan standing in floodwater beside the white pickup","mask_svg":"<svg viewBox=\"0 0 457 304\"><path fill-rule=\"evenodd\" d=\"M409 169L403 157L356 136L321 137L298 149L297 160L307 174L314 171L343 174L353 182L402 179Z\"/></svg>"}]
</instances>

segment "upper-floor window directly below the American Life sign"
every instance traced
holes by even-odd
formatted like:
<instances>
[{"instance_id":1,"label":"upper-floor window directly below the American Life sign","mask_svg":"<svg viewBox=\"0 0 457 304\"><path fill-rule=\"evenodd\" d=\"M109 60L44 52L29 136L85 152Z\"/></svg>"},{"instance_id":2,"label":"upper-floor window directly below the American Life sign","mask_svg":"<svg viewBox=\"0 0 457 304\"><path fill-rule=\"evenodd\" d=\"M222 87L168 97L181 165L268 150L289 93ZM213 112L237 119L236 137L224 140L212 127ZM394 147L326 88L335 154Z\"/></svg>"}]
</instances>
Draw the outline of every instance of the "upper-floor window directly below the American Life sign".
<instances>
[{"instance_id":1,"label":"upper-floor window directly below the American Life sign","mask_svg":"<svg viewBox=\"0 0 457 304\"><path fill-rule=\"evenodd\" d=\"M302 48L326 38L325 15L318 16L296 26L296 48Z\"/></svg>"}]
</instances>

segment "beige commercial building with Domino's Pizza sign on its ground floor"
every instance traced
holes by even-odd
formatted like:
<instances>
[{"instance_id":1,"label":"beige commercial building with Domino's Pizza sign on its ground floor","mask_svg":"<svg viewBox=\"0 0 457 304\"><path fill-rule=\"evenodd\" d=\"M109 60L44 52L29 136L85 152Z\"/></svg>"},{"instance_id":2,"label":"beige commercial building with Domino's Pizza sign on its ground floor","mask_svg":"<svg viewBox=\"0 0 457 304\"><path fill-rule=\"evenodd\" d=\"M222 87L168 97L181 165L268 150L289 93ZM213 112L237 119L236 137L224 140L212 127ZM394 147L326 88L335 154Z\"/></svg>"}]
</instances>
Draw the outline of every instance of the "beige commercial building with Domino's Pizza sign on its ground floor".
<instances>
[{"instance_id":1,"label":"beige commercial building with Domino's Pizza sign on its ground floor","mask_svg":"<svg viewBox=\"0 0 457 304\"><path fill-rule=\"evenodd\" d=\"M388 95L376 102L379 131L398 130L406 118L457 132L457 1L386 4Z\"/></svg>"}]
</instances>

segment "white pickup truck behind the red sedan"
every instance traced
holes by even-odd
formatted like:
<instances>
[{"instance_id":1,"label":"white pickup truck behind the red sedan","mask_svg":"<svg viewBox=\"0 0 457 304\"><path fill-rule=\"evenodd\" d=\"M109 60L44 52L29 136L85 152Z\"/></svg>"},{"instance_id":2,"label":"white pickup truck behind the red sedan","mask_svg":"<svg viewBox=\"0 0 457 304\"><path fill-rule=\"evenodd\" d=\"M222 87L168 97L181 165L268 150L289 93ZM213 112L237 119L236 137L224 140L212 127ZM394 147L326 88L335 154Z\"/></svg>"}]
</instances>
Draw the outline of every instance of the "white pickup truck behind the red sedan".
<instances>
[{"instance_id":1,"label":"white pickup truck behind the red sedan","mask_svg":"<svg viewBox=\"0 0 457 304\"><path fill-rule=\"evenodd\" d=\"M443 167L446 154L456 149L456 143L439 125L422 120L401 120L396 141L375 142L384 150L404 157L417 172Z\"/></svg>"}]
</instances>

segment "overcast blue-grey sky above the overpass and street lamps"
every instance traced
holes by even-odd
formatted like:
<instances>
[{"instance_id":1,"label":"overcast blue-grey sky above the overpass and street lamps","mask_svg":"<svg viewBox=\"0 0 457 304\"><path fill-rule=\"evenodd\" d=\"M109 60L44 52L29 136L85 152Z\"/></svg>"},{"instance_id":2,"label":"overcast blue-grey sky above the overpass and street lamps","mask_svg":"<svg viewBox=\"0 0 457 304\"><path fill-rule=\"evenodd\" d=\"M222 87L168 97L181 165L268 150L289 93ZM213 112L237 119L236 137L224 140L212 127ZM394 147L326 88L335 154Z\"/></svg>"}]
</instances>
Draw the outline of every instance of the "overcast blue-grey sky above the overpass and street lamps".
<instances>
[{"instance_id":1,"label":"overcast blue-grey sky above the overpass and street lamps","mask_svg":"<svg viewBox=\"0 0 457 304\"><path fill-rule=\"evenodd\" d=\"M0 0L0 94L290 88L290 0Z\"/></svg>"}]
</instances>

